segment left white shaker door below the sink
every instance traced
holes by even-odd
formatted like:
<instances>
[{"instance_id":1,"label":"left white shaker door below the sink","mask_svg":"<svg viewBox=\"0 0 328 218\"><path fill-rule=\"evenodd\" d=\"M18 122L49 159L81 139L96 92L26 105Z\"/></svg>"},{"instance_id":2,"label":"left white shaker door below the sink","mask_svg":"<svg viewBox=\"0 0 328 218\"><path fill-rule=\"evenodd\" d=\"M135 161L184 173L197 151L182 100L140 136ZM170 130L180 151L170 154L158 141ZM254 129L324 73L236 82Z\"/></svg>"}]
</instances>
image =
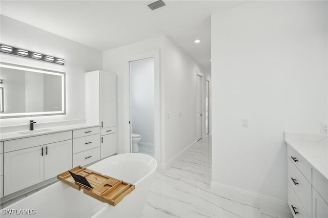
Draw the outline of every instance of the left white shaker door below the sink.
<instances>
[{"instance_id":1,"label":"left white shaker door below the sink","mask_svg":"<svg viewBox=\"0 0 328 218\"><path fill-rule=\"evenodd\" d=\"M4 195L44 181L44 146L5 153Z\"/></svg>"}]
</instances>

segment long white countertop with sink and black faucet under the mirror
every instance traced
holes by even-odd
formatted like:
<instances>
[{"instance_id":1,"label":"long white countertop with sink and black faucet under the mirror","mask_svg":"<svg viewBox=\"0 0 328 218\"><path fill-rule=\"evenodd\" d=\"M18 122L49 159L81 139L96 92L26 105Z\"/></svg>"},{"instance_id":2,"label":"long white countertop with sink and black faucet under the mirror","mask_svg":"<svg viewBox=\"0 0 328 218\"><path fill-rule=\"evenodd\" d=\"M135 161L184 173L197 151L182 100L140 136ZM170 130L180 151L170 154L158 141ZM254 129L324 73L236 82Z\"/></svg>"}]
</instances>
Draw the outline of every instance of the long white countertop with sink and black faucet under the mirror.
<instances>
[{"instance_id":1,"label":"long white countertop with sink and black faucet under the mirror","mask_svg":"<svg viewBox=\"0 0 328 218\"><path fill-rule=\"evenodd\" d=\"M19 131L19 132L2 133L2 134L0 134L0 141L21 139L21 138L26 138L26 137L31 137L31 136L59 133L59 132L65 132L65 131L70 131L70 130L75 130L75 129L95 127L95 126L100 126L100 125L99 124L79 123L79 124L73 124L73 125L63 125L63 126L55 126L55 127L48 127L48 128L37 128L32 131L26 130L26 131ZM20 134L20 133L26 133L26 134Z\"/></svg>"}]
</instances>

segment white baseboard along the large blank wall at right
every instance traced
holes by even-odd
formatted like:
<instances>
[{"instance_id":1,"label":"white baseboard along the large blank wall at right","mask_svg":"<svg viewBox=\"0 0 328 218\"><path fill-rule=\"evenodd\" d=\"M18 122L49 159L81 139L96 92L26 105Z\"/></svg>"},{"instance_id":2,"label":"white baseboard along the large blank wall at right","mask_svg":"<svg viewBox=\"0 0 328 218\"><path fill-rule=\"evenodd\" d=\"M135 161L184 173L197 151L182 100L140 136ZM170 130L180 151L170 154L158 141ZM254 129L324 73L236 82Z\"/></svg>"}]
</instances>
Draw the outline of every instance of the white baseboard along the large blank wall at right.
<instances>
[{"instance_id":1,"label":"white baseboard along the large blank wall at right","mask_svg":"<svg viewBox=\"0 0 328 218\"><path fill-rule=\"evenodd\" d=\"M275 199L270 196L228 185L223 185L213 181L211 181L211 189L220 193L220 195L223 195L226 198L236 201L243 201L244 203L258 207L262 213L273 215L272 213L275 211L275 215L277 217L291 217L291 210L287 202L284 202L280 199Z\"/></svg>"}]
</instances>

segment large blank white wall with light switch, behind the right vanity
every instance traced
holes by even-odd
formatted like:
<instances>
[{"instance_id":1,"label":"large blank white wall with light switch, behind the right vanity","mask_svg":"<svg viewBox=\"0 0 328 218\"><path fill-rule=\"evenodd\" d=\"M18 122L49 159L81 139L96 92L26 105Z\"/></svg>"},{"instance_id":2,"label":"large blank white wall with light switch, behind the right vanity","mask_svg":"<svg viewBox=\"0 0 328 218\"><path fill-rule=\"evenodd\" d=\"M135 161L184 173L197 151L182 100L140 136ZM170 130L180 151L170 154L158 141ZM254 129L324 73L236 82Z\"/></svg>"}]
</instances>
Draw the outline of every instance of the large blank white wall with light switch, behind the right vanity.
<instances>
[{"instance_id":1,"label":"large blank white wall with light switch, behind the right vanity","mask_svg":"<svg viewBox=\"0 0 328 218\"><path fill-rule=\"evenodd\" d=\"M255 2L211 25L212 182L286 202L284 131L328 120L327 2Z\"/></svg>"}]
</instances>

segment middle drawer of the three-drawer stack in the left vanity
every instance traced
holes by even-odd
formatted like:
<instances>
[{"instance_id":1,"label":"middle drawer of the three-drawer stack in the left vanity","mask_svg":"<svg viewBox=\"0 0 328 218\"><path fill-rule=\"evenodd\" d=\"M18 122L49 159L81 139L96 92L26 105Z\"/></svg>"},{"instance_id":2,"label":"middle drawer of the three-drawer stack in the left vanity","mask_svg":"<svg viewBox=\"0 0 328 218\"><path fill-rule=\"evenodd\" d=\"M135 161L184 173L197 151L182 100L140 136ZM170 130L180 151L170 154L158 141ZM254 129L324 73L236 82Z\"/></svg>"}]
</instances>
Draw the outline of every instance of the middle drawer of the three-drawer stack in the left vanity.
<instances>
[{"instance_id":1,"label":"middle drawer of the three-drawer stack in the left vanity","mask_svg":"<svg viewBox=\"0 0 328 218\"><path fill-rule=\"evenodd\" d=\"M91 135L73 139L73 154L100 146L100 135Z\"/></svg>"}]
</instances>

